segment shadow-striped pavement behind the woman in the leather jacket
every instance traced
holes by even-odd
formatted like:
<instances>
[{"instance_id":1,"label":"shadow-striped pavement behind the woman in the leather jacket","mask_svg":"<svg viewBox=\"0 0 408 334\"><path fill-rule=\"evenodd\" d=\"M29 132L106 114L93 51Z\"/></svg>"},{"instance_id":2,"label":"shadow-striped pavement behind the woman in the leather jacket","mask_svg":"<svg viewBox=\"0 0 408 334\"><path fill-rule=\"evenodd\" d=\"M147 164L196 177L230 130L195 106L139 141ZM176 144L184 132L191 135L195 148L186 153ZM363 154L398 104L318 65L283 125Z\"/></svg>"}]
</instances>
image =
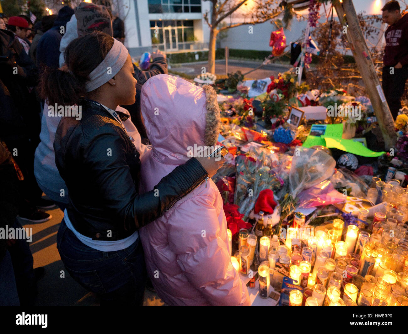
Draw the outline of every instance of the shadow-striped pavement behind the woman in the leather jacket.
<instances>
[{"instance_id":1,"label":"shadow-striped pavement behind the woman in the leather jacket","mask_svg":"<svg viewBox=\"0 0 408 334\"><path fill-rule=\"evenodd\" d=\"M43 266L45 275L38 281L38 297L35 305L98 305L93 295L74 281L62 264L57 250L57 232L63 217L56 207L46 211L52 215L44 223L30 223L20 220L23 227L33 229L33 240L30 243L34 258L34 268ZM143 305L163 305L157 294L145 290Z\"/></svg>"}]
</instances>

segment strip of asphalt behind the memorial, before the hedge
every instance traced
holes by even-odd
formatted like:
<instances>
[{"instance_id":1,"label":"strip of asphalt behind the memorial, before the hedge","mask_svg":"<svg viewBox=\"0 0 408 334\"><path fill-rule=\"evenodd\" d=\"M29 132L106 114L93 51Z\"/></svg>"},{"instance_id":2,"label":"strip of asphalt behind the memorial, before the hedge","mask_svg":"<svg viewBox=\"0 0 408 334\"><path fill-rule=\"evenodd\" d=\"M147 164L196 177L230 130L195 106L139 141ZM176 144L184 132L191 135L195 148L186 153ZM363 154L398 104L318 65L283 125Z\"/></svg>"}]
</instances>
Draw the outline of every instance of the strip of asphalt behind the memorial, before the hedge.
<instances>
[{"instance_id":1,"label":"strip of asphalt behind the memorial, before the hedge","mask_svg":"<svg viewBox=\"0 0 408 334\"><path fill-rule=\"evenodd\" d=\"M244 74L246 72L249 72L250 70L253 70L254 68L257 68L261 64L262 62L255 61L248 62L230 59L228 60L228 73L236 72L239 70L241 71L241 73ZM202 73L203 67L205 67L207 71L208 63L207 62L184 63L180 64L180 67L172 66L171 69L169 69L169 72L171 72L171 70L174 70L177 72L186 73L188 75L199 75ZM245 77L246 79L264 79L270 77L271 75L274 75L276 77L279 73L283 73L290 68L292 68L292 66L289 64L288 65L268 64L249 73ZM226 69L225 60L217 60L215 62L215 74L225 75L226 74L225 69Z\"/></svg>"}]
</instances>

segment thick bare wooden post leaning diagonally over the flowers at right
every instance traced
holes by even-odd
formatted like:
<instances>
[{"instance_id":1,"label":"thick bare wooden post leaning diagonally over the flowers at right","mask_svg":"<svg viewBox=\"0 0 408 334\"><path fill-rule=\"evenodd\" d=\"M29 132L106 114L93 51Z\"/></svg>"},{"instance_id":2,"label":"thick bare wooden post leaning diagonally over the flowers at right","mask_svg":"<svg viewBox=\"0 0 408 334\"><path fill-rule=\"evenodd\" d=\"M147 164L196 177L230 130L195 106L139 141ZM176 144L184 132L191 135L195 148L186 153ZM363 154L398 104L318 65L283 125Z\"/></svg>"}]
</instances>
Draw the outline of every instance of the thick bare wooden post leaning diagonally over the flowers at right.
<instances>
[{"instance_id":1,"label":"thick bare wooden post leaning diagonally over the flowers at right","mask_svg":"<svg viewBox=\"0 0 408 334\"><path fill-rule=\"evenodd\" d=\"M378 124L384 137L385 148L389 150L390 148L395 147L397 141L397 135L394 130L394 119L392 118L387 102L381 101L380 92L381 95L384 95L384 93L382 92L381 83L375 72L375 67L373 60L370 57L370 51L368 50L366 40L361 31L353 1L343 0L343 4L336 1L334 2L334 6L340 24L345 24L343 18L344 15L346 15L346 21L348 24L346 34L347 39L351 44L355 61L360 70L364 85L366 86L366 92L373 105L375 116L377 116Z\"/></svg>"}]
</instances>

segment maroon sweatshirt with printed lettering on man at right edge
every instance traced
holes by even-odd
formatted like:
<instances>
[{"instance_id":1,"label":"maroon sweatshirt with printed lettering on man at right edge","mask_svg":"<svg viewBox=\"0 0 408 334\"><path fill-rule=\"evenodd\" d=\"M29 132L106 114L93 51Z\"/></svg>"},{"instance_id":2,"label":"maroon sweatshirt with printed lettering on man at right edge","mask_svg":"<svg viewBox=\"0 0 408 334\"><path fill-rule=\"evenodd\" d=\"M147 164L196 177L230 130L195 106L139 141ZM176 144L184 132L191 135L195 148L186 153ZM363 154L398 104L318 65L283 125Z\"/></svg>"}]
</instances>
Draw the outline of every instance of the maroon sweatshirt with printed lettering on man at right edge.
<instances>
[{"instance_id":1,"label":"maroon sweatshirt with printed lettering on man at right edge","mask_svg":"<svg viewBox=\"0 0 408 334\"><path fill-rule=\"evenodd\" d=\"M386 47L384 66L408 64L408 13L404 13L397 23L388 26L385 32Z\"/></svg>"}]
</instances>

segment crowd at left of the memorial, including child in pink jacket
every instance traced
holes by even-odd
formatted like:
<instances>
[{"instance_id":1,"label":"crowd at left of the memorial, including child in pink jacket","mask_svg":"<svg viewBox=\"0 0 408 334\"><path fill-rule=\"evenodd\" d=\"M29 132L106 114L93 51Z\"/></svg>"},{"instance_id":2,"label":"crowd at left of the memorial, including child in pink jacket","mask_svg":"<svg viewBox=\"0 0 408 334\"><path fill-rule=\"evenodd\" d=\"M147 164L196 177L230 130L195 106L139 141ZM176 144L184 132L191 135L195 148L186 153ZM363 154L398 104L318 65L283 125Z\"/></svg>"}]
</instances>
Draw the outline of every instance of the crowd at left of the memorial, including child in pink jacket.
<instances>
[{"instance_id":1,"label":"crowd at left of the memorial, including child in pink jacket","mask_svg":"<svg viewBox=\"0 0 408 334\"><path fill-rule=\"evenodd\" d=\"M249 305L211 180L223 158L188 156L217 142L215 91L158 50L140 70L120 21L86 2L0 19L0 228L58 206L61 260L100 305L142 305L148 277L169 305ZM0 238L1 305L33 305L43 274L26 240Z\"/></svg>"}]
</instances>

